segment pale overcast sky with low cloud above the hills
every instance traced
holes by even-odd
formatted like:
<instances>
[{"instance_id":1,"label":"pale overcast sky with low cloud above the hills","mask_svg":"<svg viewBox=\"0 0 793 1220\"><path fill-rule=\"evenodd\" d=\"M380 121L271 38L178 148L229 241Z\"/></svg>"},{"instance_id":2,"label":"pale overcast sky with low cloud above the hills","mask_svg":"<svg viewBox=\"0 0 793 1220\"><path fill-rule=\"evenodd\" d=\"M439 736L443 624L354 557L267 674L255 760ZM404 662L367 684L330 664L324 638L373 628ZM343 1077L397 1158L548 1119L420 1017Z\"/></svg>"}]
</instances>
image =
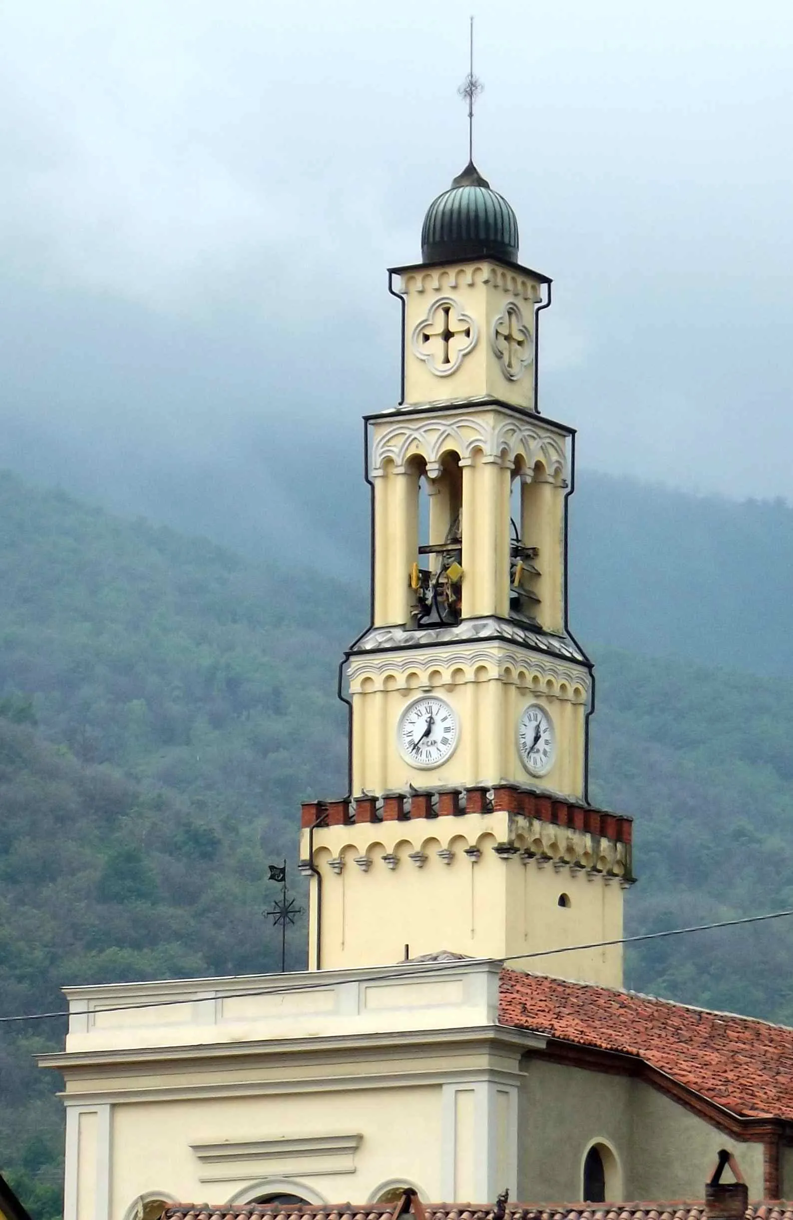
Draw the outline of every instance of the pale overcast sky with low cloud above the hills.
<instances>
[{"instance_id":1,"label":"pale overcast sky with low cloud above the hills","mask_svg":"<svg viewBox=\"0 0 793 1220\"><path fill-rule=\"evenodd\" d=\"M357 442L398 394L384 268L466 160L468 11L4 0L9 460ZM554 278L543 410L583 465L793 498L793 5L473 11L476 161Z\"/></svg>"}]
</instances>

